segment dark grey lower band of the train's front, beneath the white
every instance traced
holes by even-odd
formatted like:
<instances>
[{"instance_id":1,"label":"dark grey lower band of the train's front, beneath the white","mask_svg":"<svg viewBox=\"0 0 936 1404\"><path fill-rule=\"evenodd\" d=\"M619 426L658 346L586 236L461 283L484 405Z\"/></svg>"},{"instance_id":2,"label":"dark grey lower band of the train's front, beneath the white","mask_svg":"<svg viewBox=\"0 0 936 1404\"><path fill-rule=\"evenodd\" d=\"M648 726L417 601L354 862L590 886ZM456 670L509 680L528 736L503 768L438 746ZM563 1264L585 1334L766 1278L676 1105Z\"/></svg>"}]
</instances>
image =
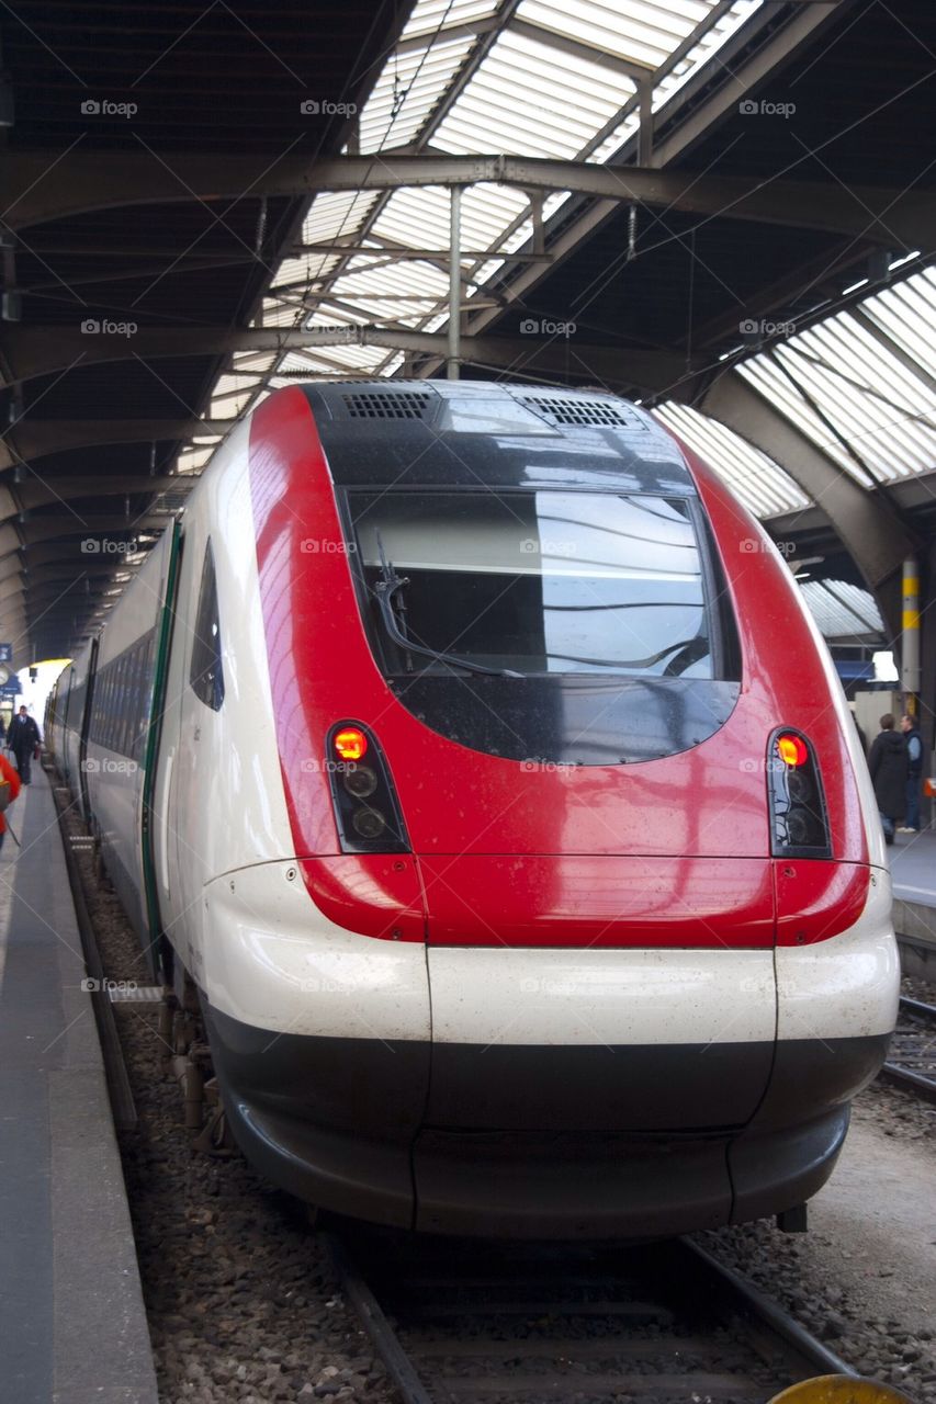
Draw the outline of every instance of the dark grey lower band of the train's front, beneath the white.
<instances>
[{"instance_id":1,"label":"dark grey lower band of the train's front, beneath the white","mask_svg":"<svg viewBox=\"0 0 936 1404\"><path fill-rule=\"evenodd\" d=\"M485 1050L205 1015L233 1134L275 1184L377 1223L505 1237L659 1237L802 1203L887 1047Z\"/></svg>"}]
</instances>

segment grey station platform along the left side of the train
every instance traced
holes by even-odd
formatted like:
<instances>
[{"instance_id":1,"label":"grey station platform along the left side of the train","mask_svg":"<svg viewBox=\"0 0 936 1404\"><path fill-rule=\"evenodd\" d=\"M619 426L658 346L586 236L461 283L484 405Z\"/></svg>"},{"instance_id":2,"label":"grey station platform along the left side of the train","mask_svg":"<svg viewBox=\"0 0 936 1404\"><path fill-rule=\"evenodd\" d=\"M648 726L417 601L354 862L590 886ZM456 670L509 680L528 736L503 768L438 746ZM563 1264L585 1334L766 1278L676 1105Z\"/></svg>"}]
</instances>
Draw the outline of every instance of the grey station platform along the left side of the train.
<instances>
[{"instance_id":1,"label":"grey station platform along the left side of the train","mask_svg":"<svg viewBox=\"0 0 936 1404\"><path fill-rule=\"evenodd\" d=\"M157 1404L119 1153L49 781L0 852L0 1398Z\"/></svg>"}]
</instances>

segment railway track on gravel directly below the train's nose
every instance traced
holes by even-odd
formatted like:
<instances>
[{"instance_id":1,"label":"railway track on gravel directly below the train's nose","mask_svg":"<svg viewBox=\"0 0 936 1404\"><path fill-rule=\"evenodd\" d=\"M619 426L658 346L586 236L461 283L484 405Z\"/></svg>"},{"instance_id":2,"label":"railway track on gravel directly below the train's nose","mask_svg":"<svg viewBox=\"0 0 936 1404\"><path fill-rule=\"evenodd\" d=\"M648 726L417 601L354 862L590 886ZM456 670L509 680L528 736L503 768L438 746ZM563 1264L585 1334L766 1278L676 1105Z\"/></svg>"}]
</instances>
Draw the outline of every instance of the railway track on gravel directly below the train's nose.
<instances>
[{"instance_id":1,"label":"railway track on gravel directly below the train's nose","mask_svg":"<svg viewBox=\"0 0 936 1404\"><path fill-rule=\"evenodd\" d=\"M547 1245L327 1234L405 1404L763 1404L853 1375L687 1240Z\"/></svg>"}]
</instances>

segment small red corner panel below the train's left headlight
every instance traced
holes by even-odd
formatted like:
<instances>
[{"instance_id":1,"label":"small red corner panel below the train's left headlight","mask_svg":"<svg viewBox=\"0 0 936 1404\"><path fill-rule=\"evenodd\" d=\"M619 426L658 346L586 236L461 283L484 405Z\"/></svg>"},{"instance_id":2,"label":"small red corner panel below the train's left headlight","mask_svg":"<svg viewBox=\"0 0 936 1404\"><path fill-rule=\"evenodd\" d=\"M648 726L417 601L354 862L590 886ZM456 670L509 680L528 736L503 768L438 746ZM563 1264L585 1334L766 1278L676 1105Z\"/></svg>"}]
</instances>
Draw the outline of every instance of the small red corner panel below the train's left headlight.
<instances>
[{"instance_id":1,"label":"small red corner panel below the train's left headlight","mask_svg":"<svg viewBox=\"0 0 936 1404\"><path fill-rule=\"evenodd\" d=\"M329 921L385 941L424 941L423 889L416 861L401 854L305 858L305 886Z\"/></svg>"}]
</instances>

